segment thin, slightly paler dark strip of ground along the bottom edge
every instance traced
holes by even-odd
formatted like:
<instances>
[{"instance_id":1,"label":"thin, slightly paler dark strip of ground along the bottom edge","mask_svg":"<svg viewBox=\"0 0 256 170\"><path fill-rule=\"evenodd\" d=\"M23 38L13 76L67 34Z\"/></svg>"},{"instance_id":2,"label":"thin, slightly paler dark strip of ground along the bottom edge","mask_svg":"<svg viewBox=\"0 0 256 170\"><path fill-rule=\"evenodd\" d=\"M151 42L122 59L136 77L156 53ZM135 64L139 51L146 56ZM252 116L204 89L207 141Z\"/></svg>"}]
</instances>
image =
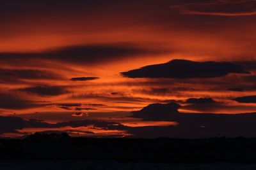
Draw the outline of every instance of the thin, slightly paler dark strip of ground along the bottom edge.
<instances>
[{"instance_id":1,"label":"thin, slightly paler dark strip of ground along the bottom edge","mask_svg":"<svg viewBox=\"0 0 256 170\"><path fill-rule=\"evenodd\" d=\"M116 162L93 160L5 160L3 170L255 170L256 164L200 163L162 164L157 162Z\"/></svg>"}]
</instances>

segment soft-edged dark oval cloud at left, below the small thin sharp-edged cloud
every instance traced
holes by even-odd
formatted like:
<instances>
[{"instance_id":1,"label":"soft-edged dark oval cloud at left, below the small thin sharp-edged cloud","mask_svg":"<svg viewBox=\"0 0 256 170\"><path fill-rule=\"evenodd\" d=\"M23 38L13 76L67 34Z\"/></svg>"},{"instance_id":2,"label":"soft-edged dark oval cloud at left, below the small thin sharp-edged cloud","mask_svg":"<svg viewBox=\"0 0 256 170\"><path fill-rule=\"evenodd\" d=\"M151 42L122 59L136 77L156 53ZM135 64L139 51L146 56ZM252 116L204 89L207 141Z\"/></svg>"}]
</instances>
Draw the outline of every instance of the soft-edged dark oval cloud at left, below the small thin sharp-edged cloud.
<instances>
[{"instance_id":1,"label":"soft-edged dark oval cloud at left, below the small thin sharp-edged cloud","mask_svg":"<svg viewBox=\"0 0 256 170\"><path fill-rule=\"evenodd\" d=\"M66 90L64 87L58 86L35 86L19 89L19 91L35 94L38 96L59 96L61 94L68 93L68 90Z\"/></svg>"}]
</instances>

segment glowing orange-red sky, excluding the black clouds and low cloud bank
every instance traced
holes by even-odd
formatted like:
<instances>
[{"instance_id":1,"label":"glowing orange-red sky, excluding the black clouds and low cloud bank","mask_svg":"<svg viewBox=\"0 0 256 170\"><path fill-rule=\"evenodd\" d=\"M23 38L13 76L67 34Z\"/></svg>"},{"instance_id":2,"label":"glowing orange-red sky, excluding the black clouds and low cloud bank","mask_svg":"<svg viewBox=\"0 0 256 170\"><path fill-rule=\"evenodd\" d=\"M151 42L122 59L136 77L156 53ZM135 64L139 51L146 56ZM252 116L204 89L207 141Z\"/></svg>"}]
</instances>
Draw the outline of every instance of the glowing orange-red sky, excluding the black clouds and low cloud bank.
<instances>
[{"instance_id":1,"label":"glowing orange-red sky, excluding the black clouds and low cloud bank","mask_svg":"<svg viewBox=\"0 0 256 170\"><path fill-rule=\"evenodd\" d=\"M187 113L255 111L255 103L232 100L256 92L255 1L13 0L1 4L0 99L6 99L0 102L1 116L52 124L97 119L132 127L173 125L170 120L128 118L130 111L152 103L176 101ZM250 74L186 79L120 74L173 59L232 62ZM83 77L92 79L71 80ZM243 92L227 90L234 88ZM195 108L186 103L192 97L212 98L218 106ZM52 130L61 129L70 128ZM49 129L19 132L44 130Z\"/></svg>"}]
</instances>

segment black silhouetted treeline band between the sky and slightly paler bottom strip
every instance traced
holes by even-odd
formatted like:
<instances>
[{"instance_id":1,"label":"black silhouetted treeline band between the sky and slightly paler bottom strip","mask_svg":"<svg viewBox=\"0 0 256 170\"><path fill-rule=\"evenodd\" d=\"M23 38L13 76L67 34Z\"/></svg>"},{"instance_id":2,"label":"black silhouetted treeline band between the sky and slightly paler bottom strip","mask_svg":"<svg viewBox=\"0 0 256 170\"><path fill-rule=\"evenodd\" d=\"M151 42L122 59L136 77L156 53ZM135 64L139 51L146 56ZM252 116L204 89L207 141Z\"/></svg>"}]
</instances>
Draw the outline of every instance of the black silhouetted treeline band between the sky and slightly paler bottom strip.
<instances>
[{"instance_id":1,"label":"black silhouetted treeline band between the sky and slightly paler bottom strip","mask_svg":"<svg viewBox=\"0 0 256 170\"><path fill-rule=\"evenodd\" d=\"M256 138L123 139L39 134L0 139L1 159L143 162L256 162Z\"/></svg>"}]
</instances>

